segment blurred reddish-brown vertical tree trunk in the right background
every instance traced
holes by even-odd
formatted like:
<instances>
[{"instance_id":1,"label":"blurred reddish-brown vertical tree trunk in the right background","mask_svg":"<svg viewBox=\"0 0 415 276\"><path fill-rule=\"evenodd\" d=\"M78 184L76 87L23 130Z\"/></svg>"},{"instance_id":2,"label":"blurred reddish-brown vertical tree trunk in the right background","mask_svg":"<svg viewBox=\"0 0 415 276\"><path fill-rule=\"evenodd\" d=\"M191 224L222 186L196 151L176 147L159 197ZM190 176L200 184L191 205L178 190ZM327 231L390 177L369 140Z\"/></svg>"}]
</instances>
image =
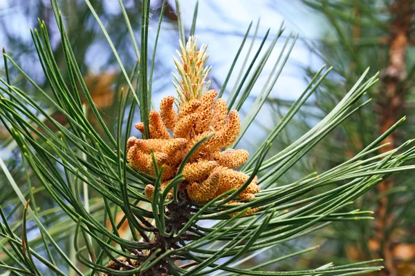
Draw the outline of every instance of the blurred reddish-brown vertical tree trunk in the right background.
<instances>
[{"instance_id":1,"label":"blurred reddish-brown vertical tree trunk in the right background","mask_svg":"<svg viewBox=\"0 0 415 276\"><path fill-rule=\"evenodd\" d=\"M382 85L380 88L380 132L385 132L402 116L403 96L405 91L400 85L405 79L406 63L405 57L409 46L409 35L412 21L412 0L395 0L391 6L393 21L391 23L389 64L382 74ZM387 152L396 148L396 133L393 133L384 143L389 143L380 150ZM393 180L382 181L378 185L378 194L385 193L394 186ZM378 255L385 259L385 270L382 275L398 276L396 264L394 264L393 245L391 237L385 235L385 229L391 223L391 214L387 212L388 197L382 197L378 201L376 212L376 235L370 241L370 247L377 251Z\"/></svg>"}]
</instances>

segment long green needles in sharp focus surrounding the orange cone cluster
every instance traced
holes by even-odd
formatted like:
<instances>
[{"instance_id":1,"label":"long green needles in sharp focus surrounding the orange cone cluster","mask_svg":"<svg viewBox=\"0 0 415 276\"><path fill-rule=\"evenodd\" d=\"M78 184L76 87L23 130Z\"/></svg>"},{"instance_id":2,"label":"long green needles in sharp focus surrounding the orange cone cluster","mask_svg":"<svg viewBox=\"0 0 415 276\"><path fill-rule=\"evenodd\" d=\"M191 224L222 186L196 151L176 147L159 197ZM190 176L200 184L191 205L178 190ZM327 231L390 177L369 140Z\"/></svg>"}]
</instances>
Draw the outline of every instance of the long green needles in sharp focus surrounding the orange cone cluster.
<instances>
[{"instance_id":1,"label":"long green needles in sharp focus surrounding the orange cone cluster","mask_svg":"<svg viewBox=\"0 0 415 276\"><path fill-rule=\"evenodd\" d=\"M53 96L48 95L48 92L30 79L13 59L4 54L7 62L19 70L20 74L36 88L37 93L42 95L55 111L64 115L67 124L62 125L51 117L44 106L33 100L28 93L14 86L10 82L12 78L9 81L7 76L6 80L1 80L3 83L0 87L1 121L8 128L21 152L28 186L30 187L30 179L33 177L42 183L42 188L38 190L29 188L28 193L22 192L21 187L17 185L3 160L0 159L8 185L19 199L14 203L17 204L16 206L25 208L22 220L10 218L17 210L17 208L9 210L12 206L11 202L0 208L2 220L0 244L6 254L0 259L1 268L13 270L17 275L46 275L50 272L57 275L68 273L71 275L94 275L94 273L101 275L102 273L107 275L162 275L162 273L169 275L210 275L211 273L216 273L216 275L218 273L224 275L357 275L382 268L376 264L380 260L372 260L343 266L333 266L329 263L309 270L267 271L260 269L284 259L308 253L317 249L317 246L301 248L301 250L278 256L261 265L241 266L258 253L264 253L277 245L288 244L293 239L320 230L331 223L341 224L344 221L371 219L370 212L350 208L353 200L392 173L415 169L415 166L405 165L407 161L415 157L415 148L409 147L411 141L403 143L396 150L376 155L377 150L382 147L378 146L380 141L396 130L405 121L403 118L358 152L355 157L338 166L320 174L312 172L291 184L284 186L277 184L279 178L295 166L321 139L369 102L360 103L359 100L374 86L377 81L376 75L367 77L366 70L320 123L284 150L275 155L270 154L270 144L286 128L306 103L308 97L329 74L330 69L324 71L322 68L259 146L257 152L243 166L242 171L251 175L246 184L239 190L230 190L209 201L208 204L199 206L183 200L185 194L178 191L177 186L182 180L181 170L187 158L205 140L194 146L183 161L178 174L164 191L160 190L160 176L163 168L158 170L156 177L151 177L131 168L126 160L127 138L130 136L133 115L137 107L140 108L142 121L148 127L148 113L151 105L151 88L149 87L151 80L147 81L149 1L142 1L141 49L140 57L137 57L140 72L138 74L134 68L130 75L127 74L116 47L100 22L98 14L93 10L91 3L88 0L85 1L102 28L120 65L122 75L128 83L125 94L121 93L122 100L119 103L116 134L111 133L100 111L93 103L82 78L82 72L77 65L57 1L53 0L53 12L61 33L62 52L66 61L64 70L67 77L64 77L63 69L57 65L51 50L46 24L39 22L39 30L32 32L39 60ZM122 1L119 3L124 11ZM183 18L180 9L177 10L181 39L185 41ZM192 32L195 32L196 11ZM138 47L132 35L129 17L125 12L123 16L138 56ZM160 16L160 23L161 19ZM258 26L254 37L256 37ZM246 32L247 35L250 33L250 28L251 26ZM249 66L246 70L243 66L239 72L240 77L237 83L234 83L234 89L227 100L230 107L240 109L246 103L252 87L268 61L276 41L281 38L283 30L281 26L268 48L265 47L267 33L252 59L248 53L244 64L249 64ZM246 37L243 38L241 48L244 46ZM290 35L286 39L266 85L243 121L241 135L249 135L249 127L275 86L296 38L292 39ZM254 40L255 38L252 40L249 52L253 50ZM290 43L291 46L288 47ZM261 51L265 48L262 54ZM240 51L235 61L239 59L239 54ZM154 63L151 63L150 75L154 66ZM234 63L230 74L233 68ZM228 80L229 77L226 83ZM138 81L138 89L134 89L132 84L134 81ZM225 85L221 95L224 91ZM86 97L88 108L98 121L99 130L91 125L89 117L85 114L84 104L80 101L81 95ZM147 130L146 135L148 137ZM232 147L236 146L237 142ZM237 197L257 174L262 176L259 179L261 192L256 195L256 199L246 201L244 204L227 204L232 198ZM142 193L147 184L155 186L151 202ZM324 193L313 194L313 191L322 187L324 187ZM167 198L170 188L174 189L172 199ZM59 235L60 233L53 232L56 226L48 229L42 224L45 211L37 210L39 199L35 199L34 196L35 193L39 193L40 189L42 193L46 193L53 199L54 209L50 212L57 213L56 220L63 220L62 227L66 227L63 231L66 233L64 237ZM98 197L89 199L89 193L94 193ZM229 197L224 197L227 195ZM26 200L28 198L30 201ZM243 213L257 207L261 207L259 212L243 217ZM6 209L8 209L7 213L4 211ZM116 215L119 211L122 211L124 215L118 222ZM107 221L111 227L107 227ZM124 221L127 221L129 238L120 235L120 228ZM206 226L206 221L210 221L208 226ZM59 221L56 224L59 226ZM40 238L29 237L29 226L39 229ZM73 244L67 247L70 252L62 248L62 241L68 239L68 235L73 238ZM72 254L71 250L73 250ZM46 255L41 254L41 251L42 253L46 251ZM122 259L119 259L120 257Z\"/></svg>"}]
</instances>

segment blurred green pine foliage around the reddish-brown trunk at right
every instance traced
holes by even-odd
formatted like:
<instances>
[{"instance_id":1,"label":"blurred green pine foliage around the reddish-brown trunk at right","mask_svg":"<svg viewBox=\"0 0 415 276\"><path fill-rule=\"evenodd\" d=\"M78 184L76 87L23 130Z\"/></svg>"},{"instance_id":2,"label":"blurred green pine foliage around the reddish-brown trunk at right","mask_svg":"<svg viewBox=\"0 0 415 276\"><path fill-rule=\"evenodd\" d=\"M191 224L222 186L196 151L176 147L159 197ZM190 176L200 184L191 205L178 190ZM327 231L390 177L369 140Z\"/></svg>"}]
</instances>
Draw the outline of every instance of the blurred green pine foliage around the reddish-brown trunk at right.
<instances>
[{"instance_id":1,"label":"blurred green pine foliage around the reddish-brown trunk at right","mask_svg":"<svg viewBox=\"0 0 415 276\"><path fill-rule=\"evenodd\" d=\"M313 107L309 110L318 114L318 119L330 112L346 89L353 86L358 75L364 72L367 66L370 66L369 72L380 72L379 83L368 90L367 95L361 99L364 101L373 97L374 103L356 112L347 124L332 132L324 144L315 150L317 153L313 152L319 155L318 161L311 162L309 166L315 170L323 170L341 164L350 155L360 152L372 139L376 139L385 127L385 119L382 117L394 120L393 118L407 115L407 123L394 131L392 140L388 140L388 142L393 141L392 145L402 144L407 137L414 137L414 124L411 123L414 121L412 108L415 72L415 63L411 55L414 50L412 43L408 43L407 48L400 46L401 52L398 52L398 55L402 55L405 64L402 72L397 73L391 69L396 57L396 50L391 48L396 43L394 40L397 28L412 30L414 27L413 21L406 27L401 26L402 22L398 21L408 13L412 14L413 18L413 10L405 10L402 5L412 2L314 0L303 2L319 19L327 22L322 39L312 40L309 48L324 62L333 64L338 74L325 79L315 93L315 104L311 104ZM407 33L407 35L410 39L412 34ZM306 74L311 78L315 75L315 70L306 68ZM393 77L394 74L396 77ZM395 92L386 92L389 83L396 83ZM289 101L278 99L270 99L270 102L275 103L275 106L291 105ZM395 103L398 103L397 108ZM309 116L309 113L304 113L304 116ZM298 124L299 128L308 129L306 124L301 122ZM391 186L387 191L377 193L377 190L371 190L353 204L354 208L376 211L376 221L333 226L330 230L319 233L318 237L326 237L326 242L333 244L335 248L333 250L339 257L346 259L350 257L351 252L357 252L354 255L356 259L369 255L381 257L389 255L391 270L398 270L395 272L397 274L410 274L409 270L413 269L405 270L405 268L412 266L413 262L409 261L411 257L407 256L407 259L398 257L397 248L400 245L412 248L414 244L412 226L415 223L413 215L415 186L411 180L413 177L413 172L395 175L387 180ZM378 215L382 213L381 205L385 201L387 201L385 215ZM374 246L376 244L374 240L379 242L378 248ZM393 271L385 272L387 273L394 274Z\"/></svg>"}]
</instances>

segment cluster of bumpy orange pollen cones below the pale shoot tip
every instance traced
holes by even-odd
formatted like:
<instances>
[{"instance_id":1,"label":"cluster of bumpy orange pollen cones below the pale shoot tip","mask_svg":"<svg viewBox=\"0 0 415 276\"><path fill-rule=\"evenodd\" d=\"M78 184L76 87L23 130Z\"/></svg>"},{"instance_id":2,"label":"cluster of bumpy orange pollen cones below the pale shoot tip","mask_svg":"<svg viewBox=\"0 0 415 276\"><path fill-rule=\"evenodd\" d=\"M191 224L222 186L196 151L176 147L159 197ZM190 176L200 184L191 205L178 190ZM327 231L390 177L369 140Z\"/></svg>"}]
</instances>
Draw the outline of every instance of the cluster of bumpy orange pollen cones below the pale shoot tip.
<instances>
[{"instance_id":1,"label":"cluster of bumpy orange pollen cones below the pale shoot tip","mask_svg":"<svg viewBox=\"0 0 415 276\"><path fill-rule=\"evenodd\" d=\"M203 204L227 190L243 186L249 176L234 168L248 160L248 152L234 149L221 151L232 144L239 135L239 114L237 110L231 110L228 114L225 100L216 99L216 96L216 90L205 92L201 99L191 99L182 104L177 113L174 110L174 97L165 97L160 103L160 113L156 110L150 112L150 139L128 139L129 164L155 176L152 150L158 168L164 167L161 176L161 188L164 189L176 176L187 152L203 137L213 135L194 152L185 165L185 180L179 187L187 190L187 195L192 201ZM144 132L143 123L136 124L136 128ZM239 199L254 199L254 194L258 192L259 186L255 177L239 194ZM147 185L147 199L151 200L153 193L154 186ZM239 201L230 203L238 204ZM252 213L255 210L250 211Z\"/></svg>"}]
</instances>

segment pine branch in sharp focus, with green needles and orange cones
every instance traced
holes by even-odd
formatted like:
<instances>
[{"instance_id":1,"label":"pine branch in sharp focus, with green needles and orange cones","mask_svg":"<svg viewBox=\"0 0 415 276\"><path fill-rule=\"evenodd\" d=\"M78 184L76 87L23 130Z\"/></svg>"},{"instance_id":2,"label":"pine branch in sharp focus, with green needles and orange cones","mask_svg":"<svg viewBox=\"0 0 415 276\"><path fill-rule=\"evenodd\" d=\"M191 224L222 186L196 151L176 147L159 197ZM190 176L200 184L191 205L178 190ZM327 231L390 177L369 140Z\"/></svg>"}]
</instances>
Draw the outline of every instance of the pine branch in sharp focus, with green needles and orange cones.
<instances>
[{"instance_id":1,"label":"pine branch in sharp focus, with green needles and orange cones","mask_svg":"<svg viewBox=\"0 0 415 276\"><path fill-rule=\"evenodd\" d=\"M39 22L39 30L33 31L33 42L52 95L38 86L7 53L3 54L8 67L16 68L65 119L57 121L41 103L15 86L14 76L6 70L0 87L0 118L19 148L28 189L16 183L0 159L8 187L17 195L0 208L4 253L0 268L16 275L142 276L356 275L382 268L379 259L368 259L340 266L327 261L308 270L264 269L317 246L280 255L256 266L243 266L273 246L289 243L331 223L371 219L370 211L349 207L353 200L392 173L415 168L406 164L415 157L415 148L409 147L411 140L377 153L384 147L381 142L403 124L403 117L347 161L324 172L310 172L291 184L277 184L279 177L331 130L369 103L360 99L376 85L377 75L368 76L368 70L362 72L326 117L284 150L270 153L271 143L331 72L331 68L322 68L248 158L248 152L236 146L243 137L252 135L249 126L267 101L297 37L288 36L266 86L241 121L239 111L246 105L277 39L281 39L283 26L261 53L267 39L264 37L243 78L225 99L240 51L221 90L210 90L209 73L214 68L209 67L208 48L199 48L194 36L198 5L189 39L183 28L185 19L177 6L183 42L178 43L178 57L172 60L177 69L173 84L177 95L165 97L158 105L151 97L154 59L148 64L149 0L142 1L140 48L129 16L119 1L125 28L132 34L131 43L138 54L131 72L125 69L127 66L93 5L89 0L85 2L127 82L127 88L120 92L116 130L111 131L95 106L73 54L71 37L65 30L57 1L53 0L64 68L51 50L46 23ZM157 33L162 17L163 12ZM135 122L138 110L140 121ZM133 124L142 132L141 138L130 135ZM39 190L31 188L34 177L42 184ZM314 193L322 189L323 193ZM37 210L42 198L35 197L36 193L44 193L53 201L50 210ZM16 207L10 210L13 204ZM24 208L22 219L15 217L20 208ZM61 227L44 226L45 212L55 213L55 221L62 222ZM35 230L39 236L33 237ZM64 244L68 237L72 243Z\"/></svg>"}]
</instances>

